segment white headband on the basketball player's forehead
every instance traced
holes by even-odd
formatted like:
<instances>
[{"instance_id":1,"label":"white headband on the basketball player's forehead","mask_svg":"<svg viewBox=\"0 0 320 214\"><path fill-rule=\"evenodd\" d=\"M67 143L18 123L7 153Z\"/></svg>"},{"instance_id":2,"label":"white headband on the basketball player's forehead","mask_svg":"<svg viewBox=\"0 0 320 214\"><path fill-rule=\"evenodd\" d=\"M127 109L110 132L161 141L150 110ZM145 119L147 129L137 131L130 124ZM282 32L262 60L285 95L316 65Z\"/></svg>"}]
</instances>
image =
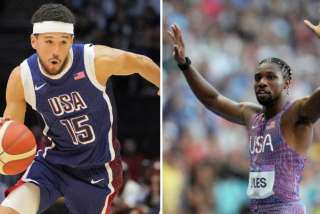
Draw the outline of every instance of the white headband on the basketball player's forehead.
<instances>
[{"instance_id":1,"label":"white headband on the basketball player's forehead","mask_svg":"<svg viewBox=\"0 0 320 214\"><path fill-rule=\"evenodd\" d=\"M33 24L33 34L39 33L73 33L73 24L56 21L44 21Z\"/></svg>"}]
</instances>

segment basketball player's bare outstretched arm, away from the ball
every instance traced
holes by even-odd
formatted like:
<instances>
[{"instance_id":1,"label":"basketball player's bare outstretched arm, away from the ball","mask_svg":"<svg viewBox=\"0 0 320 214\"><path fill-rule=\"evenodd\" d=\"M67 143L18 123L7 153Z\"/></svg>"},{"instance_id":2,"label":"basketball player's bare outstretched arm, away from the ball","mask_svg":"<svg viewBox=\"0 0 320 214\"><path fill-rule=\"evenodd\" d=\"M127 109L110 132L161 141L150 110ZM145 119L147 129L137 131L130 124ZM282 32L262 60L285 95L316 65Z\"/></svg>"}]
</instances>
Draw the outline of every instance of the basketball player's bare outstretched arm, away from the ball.
<instances>
[{"instance_id":1,"label":"basketball player's bare outstretched arm, away from the ball","mask_svg":"<svg viewBox=\"0 0 320 214\"><path fill-rule=\"evenodd\" d=\"M94 53L100 84L104 85L111 75L138 73L160 88L160 68L150 58L101 45L95 46Z\"/></svg>"}]
</instances>

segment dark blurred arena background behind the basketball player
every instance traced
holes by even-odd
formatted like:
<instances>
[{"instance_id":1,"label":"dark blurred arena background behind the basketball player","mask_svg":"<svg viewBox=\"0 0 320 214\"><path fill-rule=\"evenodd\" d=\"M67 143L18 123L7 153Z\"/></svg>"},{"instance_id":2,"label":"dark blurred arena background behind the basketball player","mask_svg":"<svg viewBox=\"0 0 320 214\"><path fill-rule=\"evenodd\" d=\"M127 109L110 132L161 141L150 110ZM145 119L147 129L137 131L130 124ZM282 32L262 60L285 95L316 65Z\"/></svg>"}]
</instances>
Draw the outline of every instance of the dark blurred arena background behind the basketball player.
<instances>
[{"instance_id":1,"label":"dark blurred arena background behind the basketball player","mask_svg":"<svg viewBox=\"0 0 320 214\"><path fill-rule=\"evenodd\" d=\"M35 53L30 45L31 17L45 3L61 3L76 17L74 43L93 43L146 55L160 66L160 0L1 0L0 116L11 71ZM107 69L107 68L106 68ZM118 110L118 139L124 168L123 186L112 204L113 214L159 213L160 98L158 88L138 74L113 76ZM28 106L25 124L42 147L41 130ZM0 175L3 191L21 177ZM45 214L68 213L63 198Z\"/></svg>"}]
</instances>

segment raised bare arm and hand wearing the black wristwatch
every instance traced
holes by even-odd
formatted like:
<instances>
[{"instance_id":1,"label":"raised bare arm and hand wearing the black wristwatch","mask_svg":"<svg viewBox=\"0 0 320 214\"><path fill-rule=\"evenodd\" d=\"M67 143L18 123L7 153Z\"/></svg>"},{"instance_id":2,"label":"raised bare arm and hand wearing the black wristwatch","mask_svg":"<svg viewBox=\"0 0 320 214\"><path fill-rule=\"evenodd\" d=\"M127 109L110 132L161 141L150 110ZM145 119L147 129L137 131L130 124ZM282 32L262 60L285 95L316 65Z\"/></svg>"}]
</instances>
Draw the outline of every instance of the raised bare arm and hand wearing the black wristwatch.
<instances>
[{"instance_id":1,"label":"raised bare arm and hand wearing the black wristwatch","mask_svg":"<svg viewBox=\"0 0 320 214\"><path fill-rule=\"evenodd\" d=\"M180 28L177 24L172 25L171 28L173 33L168 31L168 34L174 42L174 60L178 64L184 65L186 58ZM193 93L203 105L230 122L248 126L253 116L261 110L260 106L253 103L237 103L222 96L192 66L184 69L182 73Z\"/></svg>"}]
</instances>

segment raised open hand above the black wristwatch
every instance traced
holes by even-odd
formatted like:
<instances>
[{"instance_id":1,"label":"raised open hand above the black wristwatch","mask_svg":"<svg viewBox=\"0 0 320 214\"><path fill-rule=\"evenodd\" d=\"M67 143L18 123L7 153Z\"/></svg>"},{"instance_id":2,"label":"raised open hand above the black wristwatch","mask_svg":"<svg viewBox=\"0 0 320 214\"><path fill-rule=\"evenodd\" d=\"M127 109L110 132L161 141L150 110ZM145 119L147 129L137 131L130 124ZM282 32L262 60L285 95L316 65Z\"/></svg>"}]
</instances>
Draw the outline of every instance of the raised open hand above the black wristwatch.
<instances>
[{"instance_id":1,"label":"raised open hand above the black wristwatch","mask_svg":"<svg viewBox=\"0 0 320 214\"><path fill-rule=\"evenodd\" d=\"M181 36L180 27L175 23L174 25L171 25L171 29L173 34L170 31L167 31L169 36L171 36L173 40L173 58L174 60L180 64L183 65L186 63L185 55L184 55L184 43Z\"/></svg>"}]
</instances>

